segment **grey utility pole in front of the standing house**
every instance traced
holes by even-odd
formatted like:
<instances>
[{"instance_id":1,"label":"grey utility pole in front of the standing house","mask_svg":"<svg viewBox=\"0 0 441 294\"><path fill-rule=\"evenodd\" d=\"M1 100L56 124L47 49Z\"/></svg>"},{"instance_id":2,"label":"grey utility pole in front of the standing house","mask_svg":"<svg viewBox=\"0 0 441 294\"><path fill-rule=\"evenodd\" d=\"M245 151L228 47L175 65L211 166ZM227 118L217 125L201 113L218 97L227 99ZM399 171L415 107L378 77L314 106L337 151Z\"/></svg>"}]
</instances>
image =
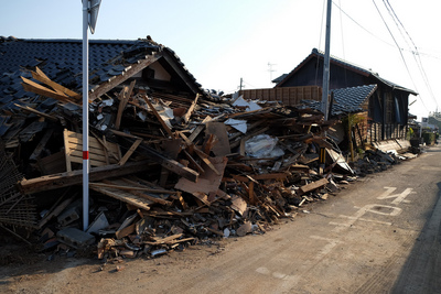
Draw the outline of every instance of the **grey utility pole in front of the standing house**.
<instances>
[{"instance_id":1,"label":"grey utility pole in front of the standing house","mask_svg":"<svg viewBox=\"0 0 441 294\"><path fill-rule=\"evenodd\" d=\"M329 112L329 92L330 92L330 46L331 46L331 7L332 0L327 0L326 12L326 40L324 48L324 63L323 63L323 89L322 89L322 112L324 120L327 120Z\"/></svg>"}]
</instances>

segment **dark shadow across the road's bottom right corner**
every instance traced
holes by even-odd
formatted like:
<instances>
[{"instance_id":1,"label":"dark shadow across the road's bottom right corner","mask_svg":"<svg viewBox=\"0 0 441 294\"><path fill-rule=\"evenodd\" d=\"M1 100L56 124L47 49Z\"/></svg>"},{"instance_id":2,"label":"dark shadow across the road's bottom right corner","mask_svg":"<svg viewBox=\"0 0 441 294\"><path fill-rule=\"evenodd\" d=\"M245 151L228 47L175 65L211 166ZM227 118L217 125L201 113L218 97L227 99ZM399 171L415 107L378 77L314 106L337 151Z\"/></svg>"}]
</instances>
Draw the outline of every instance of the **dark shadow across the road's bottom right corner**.
<instances>
[{"instance_id":1,"label":"dark shadow across the road's bottom right corner","mask_svg":"<svg viewBox=\"0 0 441 294\"><path fill-rule=\"evenodd\" d=\"M441 182L437 186L437 199L390 293L441 293Z\"/></svg>"}]
</instances>

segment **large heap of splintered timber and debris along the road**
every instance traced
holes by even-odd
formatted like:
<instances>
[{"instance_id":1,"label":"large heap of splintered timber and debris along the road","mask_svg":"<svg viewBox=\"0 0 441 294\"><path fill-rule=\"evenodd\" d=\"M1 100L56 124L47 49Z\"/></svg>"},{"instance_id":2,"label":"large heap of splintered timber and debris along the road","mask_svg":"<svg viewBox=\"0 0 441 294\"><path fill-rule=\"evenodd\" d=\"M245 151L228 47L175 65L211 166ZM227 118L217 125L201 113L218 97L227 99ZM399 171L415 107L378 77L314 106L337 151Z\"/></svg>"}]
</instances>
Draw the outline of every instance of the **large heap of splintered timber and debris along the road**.
<instances>
[{"instance_id":1,"label":"large heap of splintered timber and debris along the road","mask_svg":"<svg viewBox=\"0 0 441 294\"><path fill-rule=\"evenodd\" d=\"M93 221L83 231L80 97L43 80L57 95L3 109L0 154L0 222L31 230L41 250L157 257L263 233L354 178L324 135L335 121L316 110L209 92L191 99L132 80L89 102Z\"/></svg>"}]
</instances>

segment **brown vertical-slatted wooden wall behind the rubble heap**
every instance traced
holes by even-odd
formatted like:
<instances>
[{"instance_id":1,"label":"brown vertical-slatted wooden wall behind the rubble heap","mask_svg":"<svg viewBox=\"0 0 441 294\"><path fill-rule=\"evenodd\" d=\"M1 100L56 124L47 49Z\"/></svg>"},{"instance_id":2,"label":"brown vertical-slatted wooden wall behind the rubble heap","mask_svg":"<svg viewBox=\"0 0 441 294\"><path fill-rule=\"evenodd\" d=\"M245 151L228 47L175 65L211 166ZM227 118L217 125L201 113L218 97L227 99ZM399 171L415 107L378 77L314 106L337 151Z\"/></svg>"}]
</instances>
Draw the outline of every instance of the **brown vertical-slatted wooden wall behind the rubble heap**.
<instances>
[{"instance_id":1,"label":"brown vertical-slatted wooden wall behind the rubble heap","mask_svg":"<svg viewBox=\"0 0 441 294\"><path fill-rule=\"evenodd\" d=\"M319 86L281 87L268 89L240 90L244 99L281 101L283 105L299 105L301 100L322 100L322 88Z\"/></svg>"}]
</instances>

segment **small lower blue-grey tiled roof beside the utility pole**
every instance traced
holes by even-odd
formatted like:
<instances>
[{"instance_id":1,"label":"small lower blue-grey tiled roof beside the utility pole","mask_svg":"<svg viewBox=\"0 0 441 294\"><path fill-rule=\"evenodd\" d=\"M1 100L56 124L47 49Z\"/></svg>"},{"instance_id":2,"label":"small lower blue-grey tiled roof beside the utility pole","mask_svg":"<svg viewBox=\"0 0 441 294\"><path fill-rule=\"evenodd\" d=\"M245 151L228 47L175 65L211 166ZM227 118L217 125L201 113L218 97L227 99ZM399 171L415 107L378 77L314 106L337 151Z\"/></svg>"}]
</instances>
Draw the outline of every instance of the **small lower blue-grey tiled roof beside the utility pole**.
<instances>
[{"instance_id":1,"label":"small lower blue-grey tiled roof beside the utility pole","mask_svg":"<svg viewBox=\"0 0 441 294\"><path fill-rule=\"evenodd\" d=\"M374 94L377 85L366 85L351 88L334 89L331 113L333 116L341 113L354 113L363 110L363 104ZM321 110L320 101L303 101L309 107Z\"/></svg>"}]
</instances>

